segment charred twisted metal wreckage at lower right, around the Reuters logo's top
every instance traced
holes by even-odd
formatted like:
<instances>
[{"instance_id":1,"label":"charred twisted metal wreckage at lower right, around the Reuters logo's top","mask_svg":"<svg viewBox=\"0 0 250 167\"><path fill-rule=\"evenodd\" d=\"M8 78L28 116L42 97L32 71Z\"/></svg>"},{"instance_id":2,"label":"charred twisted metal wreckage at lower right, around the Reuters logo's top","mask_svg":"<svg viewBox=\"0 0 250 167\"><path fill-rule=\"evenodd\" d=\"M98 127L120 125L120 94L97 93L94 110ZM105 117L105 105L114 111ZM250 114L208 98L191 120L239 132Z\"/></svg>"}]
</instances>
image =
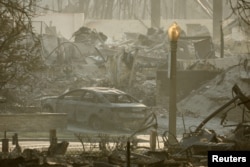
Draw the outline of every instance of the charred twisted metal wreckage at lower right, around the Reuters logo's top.
<instances>
[{"instance_id":1,"label":"charred twisted metal wreckage at lower right, around the Reuters logo's top","mask_svg":"<svg viewBox=\"0 0 250 167\"><path fill-rule=\"evenodd\" d=\"M184 133L179 141L168 140L168 131L162 134L165 148L168 149L171 156L175 158L201 158L206 157L208 151L242 151L250 149L250 99L244 95L241 89L235 84L232 88L234 97L216 111L206 117L194 130L190 128L190 132ZM242 120L240 123L233 125L225 125L226 117L233 108L228 107L235 103L235 106L244 105L242 111ZM223 127L236 127L230 133L230 136L221 136L216 134L212 129L204 128L212 118L221 114L220 124ZM175 136L174 136L175 137Z\"/></svg>"}]
</instances>

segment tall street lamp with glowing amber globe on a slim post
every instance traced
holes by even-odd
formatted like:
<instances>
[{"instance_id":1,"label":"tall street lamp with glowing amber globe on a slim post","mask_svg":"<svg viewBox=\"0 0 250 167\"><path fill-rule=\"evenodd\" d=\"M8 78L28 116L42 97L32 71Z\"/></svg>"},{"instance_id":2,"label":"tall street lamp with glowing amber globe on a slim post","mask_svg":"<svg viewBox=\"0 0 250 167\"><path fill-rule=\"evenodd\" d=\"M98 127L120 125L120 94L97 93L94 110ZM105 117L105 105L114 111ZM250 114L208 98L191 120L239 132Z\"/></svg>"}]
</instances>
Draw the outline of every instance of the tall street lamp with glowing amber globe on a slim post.
<instances>
[{"instance_id":1,"label":"tall street lamp with glowing amber globe on a slim post","mask_svg":"<svg viewBox=\"0 0 250 167\"><path fill-rule=\"evenodd\" d=\"M168 38L170 41L171 54L168 58L168 78L169 78L169 134L168 139L175 141L176 136L176 52L177 41L180 36L180 27L173 23L168 29Z\"/></svg>"}]
</instances>

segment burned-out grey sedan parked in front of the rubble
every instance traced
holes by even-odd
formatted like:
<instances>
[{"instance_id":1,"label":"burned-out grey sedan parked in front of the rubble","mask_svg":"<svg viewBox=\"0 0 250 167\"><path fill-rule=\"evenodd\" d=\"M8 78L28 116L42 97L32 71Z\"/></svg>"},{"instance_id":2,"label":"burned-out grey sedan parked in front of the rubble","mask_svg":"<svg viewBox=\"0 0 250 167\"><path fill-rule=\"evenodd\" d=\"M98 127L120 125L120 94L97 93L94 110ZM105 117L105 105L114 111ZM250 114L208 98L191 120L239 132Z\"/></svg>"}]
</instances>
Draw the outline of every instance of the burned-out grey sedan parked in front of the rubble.
<instances>
[{"instance_id":1,"label":"burned-out grey sedan parked in front of the rubble","mask_svg":"<svg viewBox=\"0 0 250 167\"><path fill-rule=\"evenodd\" d=\"M137 129L150 114L148 107L114 88L84 87L41 101L43 112L67 113L68 121L92 129Z\"/></svg>"}]
</instances>

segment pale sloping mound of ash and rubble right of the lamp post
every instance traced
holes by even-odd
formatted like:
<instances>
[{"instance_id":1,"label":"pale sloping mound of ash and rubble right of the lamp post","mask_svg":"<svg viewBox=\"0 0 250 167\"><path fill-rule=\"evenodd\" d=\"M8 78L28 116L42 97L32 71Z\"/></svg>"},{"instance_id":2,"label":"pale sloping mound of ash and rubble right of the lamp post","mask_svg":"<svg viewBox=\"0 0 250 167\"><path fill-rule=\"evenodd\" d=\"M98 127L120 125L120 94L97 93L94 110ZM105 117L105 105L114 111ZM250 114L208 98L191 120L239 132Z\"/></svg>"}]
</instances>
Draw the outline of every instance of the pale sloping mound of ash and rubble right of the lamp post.
<instances>
[{"instance_id":1,"label":"pale sloping mound of ash and rubble right of the lamp post","mask_svg":"<svg viewBox=\"0 0 250 167\"><path fill-rule=\"evenodd\" d=\"M180 113L191 112L200 117L206 117L234 97L231 90L234 84L238 84L244 94L249 95L250 82L248 79L242 78L244 73L246 73L244 65L239 62L239 65L225 70L179 101L178 111ZM239 114L235 115L231 121L239 121L242 108L238 107L234 110Z\"/></svg>"}]
</instances>

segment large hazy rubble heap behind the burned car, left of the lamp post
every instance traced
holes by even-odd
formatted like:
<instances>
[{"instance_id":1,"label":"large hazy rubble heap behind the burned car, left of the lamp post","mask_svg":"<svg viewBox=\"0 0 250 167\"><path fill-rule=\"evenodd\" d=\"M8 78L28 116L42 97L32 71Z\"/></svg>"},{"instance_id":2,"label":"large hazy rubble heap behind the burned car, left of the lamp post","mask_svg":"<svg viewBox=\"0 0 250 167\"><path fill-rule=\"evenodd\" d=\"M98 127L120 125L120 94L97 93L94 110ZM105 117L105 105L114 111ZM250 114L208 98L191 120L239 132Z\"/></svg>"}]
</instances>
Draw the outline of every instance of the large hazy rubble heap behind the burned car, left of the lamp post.
<instances>
[{"instance_id":1,"label":"large hazy rubble heap behind the burned car, left of the lamp post","mask_svg":"<svg viewBox=\"0 0 250 167\"><path fill-rule=\"evenodd\" d=\"M159 58L166 58L165 44L162 44L165 38L163 31L151 29L147 35L140 34L134 40L127 38L126 42L108 43L104 34L81 27L73 37L75 43L71 45L61 37L43 36L46 66L32 74L35 78L39 78L39 80L30 81L32 89L22 87L15 90L16 95L20 94L18 96L22 101L19 102L20 105L39 106L39 98L43 96L57 95L66 89L84 86L116 87L132 93L139 99L143 97L154 99L153 90L156 84L152 79L155 76L149 76L151 77L149 86L147 71L144 69L151 68L155 71L159 64L162 64ZM95 51L85 51L82 55L76 54L84 45L91 45ZM144 57L148 60L143 61ZM144 85L145 88L143 88ZM136 89L138 91L134 92L133 90ZM10 98L7 100L11 101Z\"/></svg>"}]
</instances>

